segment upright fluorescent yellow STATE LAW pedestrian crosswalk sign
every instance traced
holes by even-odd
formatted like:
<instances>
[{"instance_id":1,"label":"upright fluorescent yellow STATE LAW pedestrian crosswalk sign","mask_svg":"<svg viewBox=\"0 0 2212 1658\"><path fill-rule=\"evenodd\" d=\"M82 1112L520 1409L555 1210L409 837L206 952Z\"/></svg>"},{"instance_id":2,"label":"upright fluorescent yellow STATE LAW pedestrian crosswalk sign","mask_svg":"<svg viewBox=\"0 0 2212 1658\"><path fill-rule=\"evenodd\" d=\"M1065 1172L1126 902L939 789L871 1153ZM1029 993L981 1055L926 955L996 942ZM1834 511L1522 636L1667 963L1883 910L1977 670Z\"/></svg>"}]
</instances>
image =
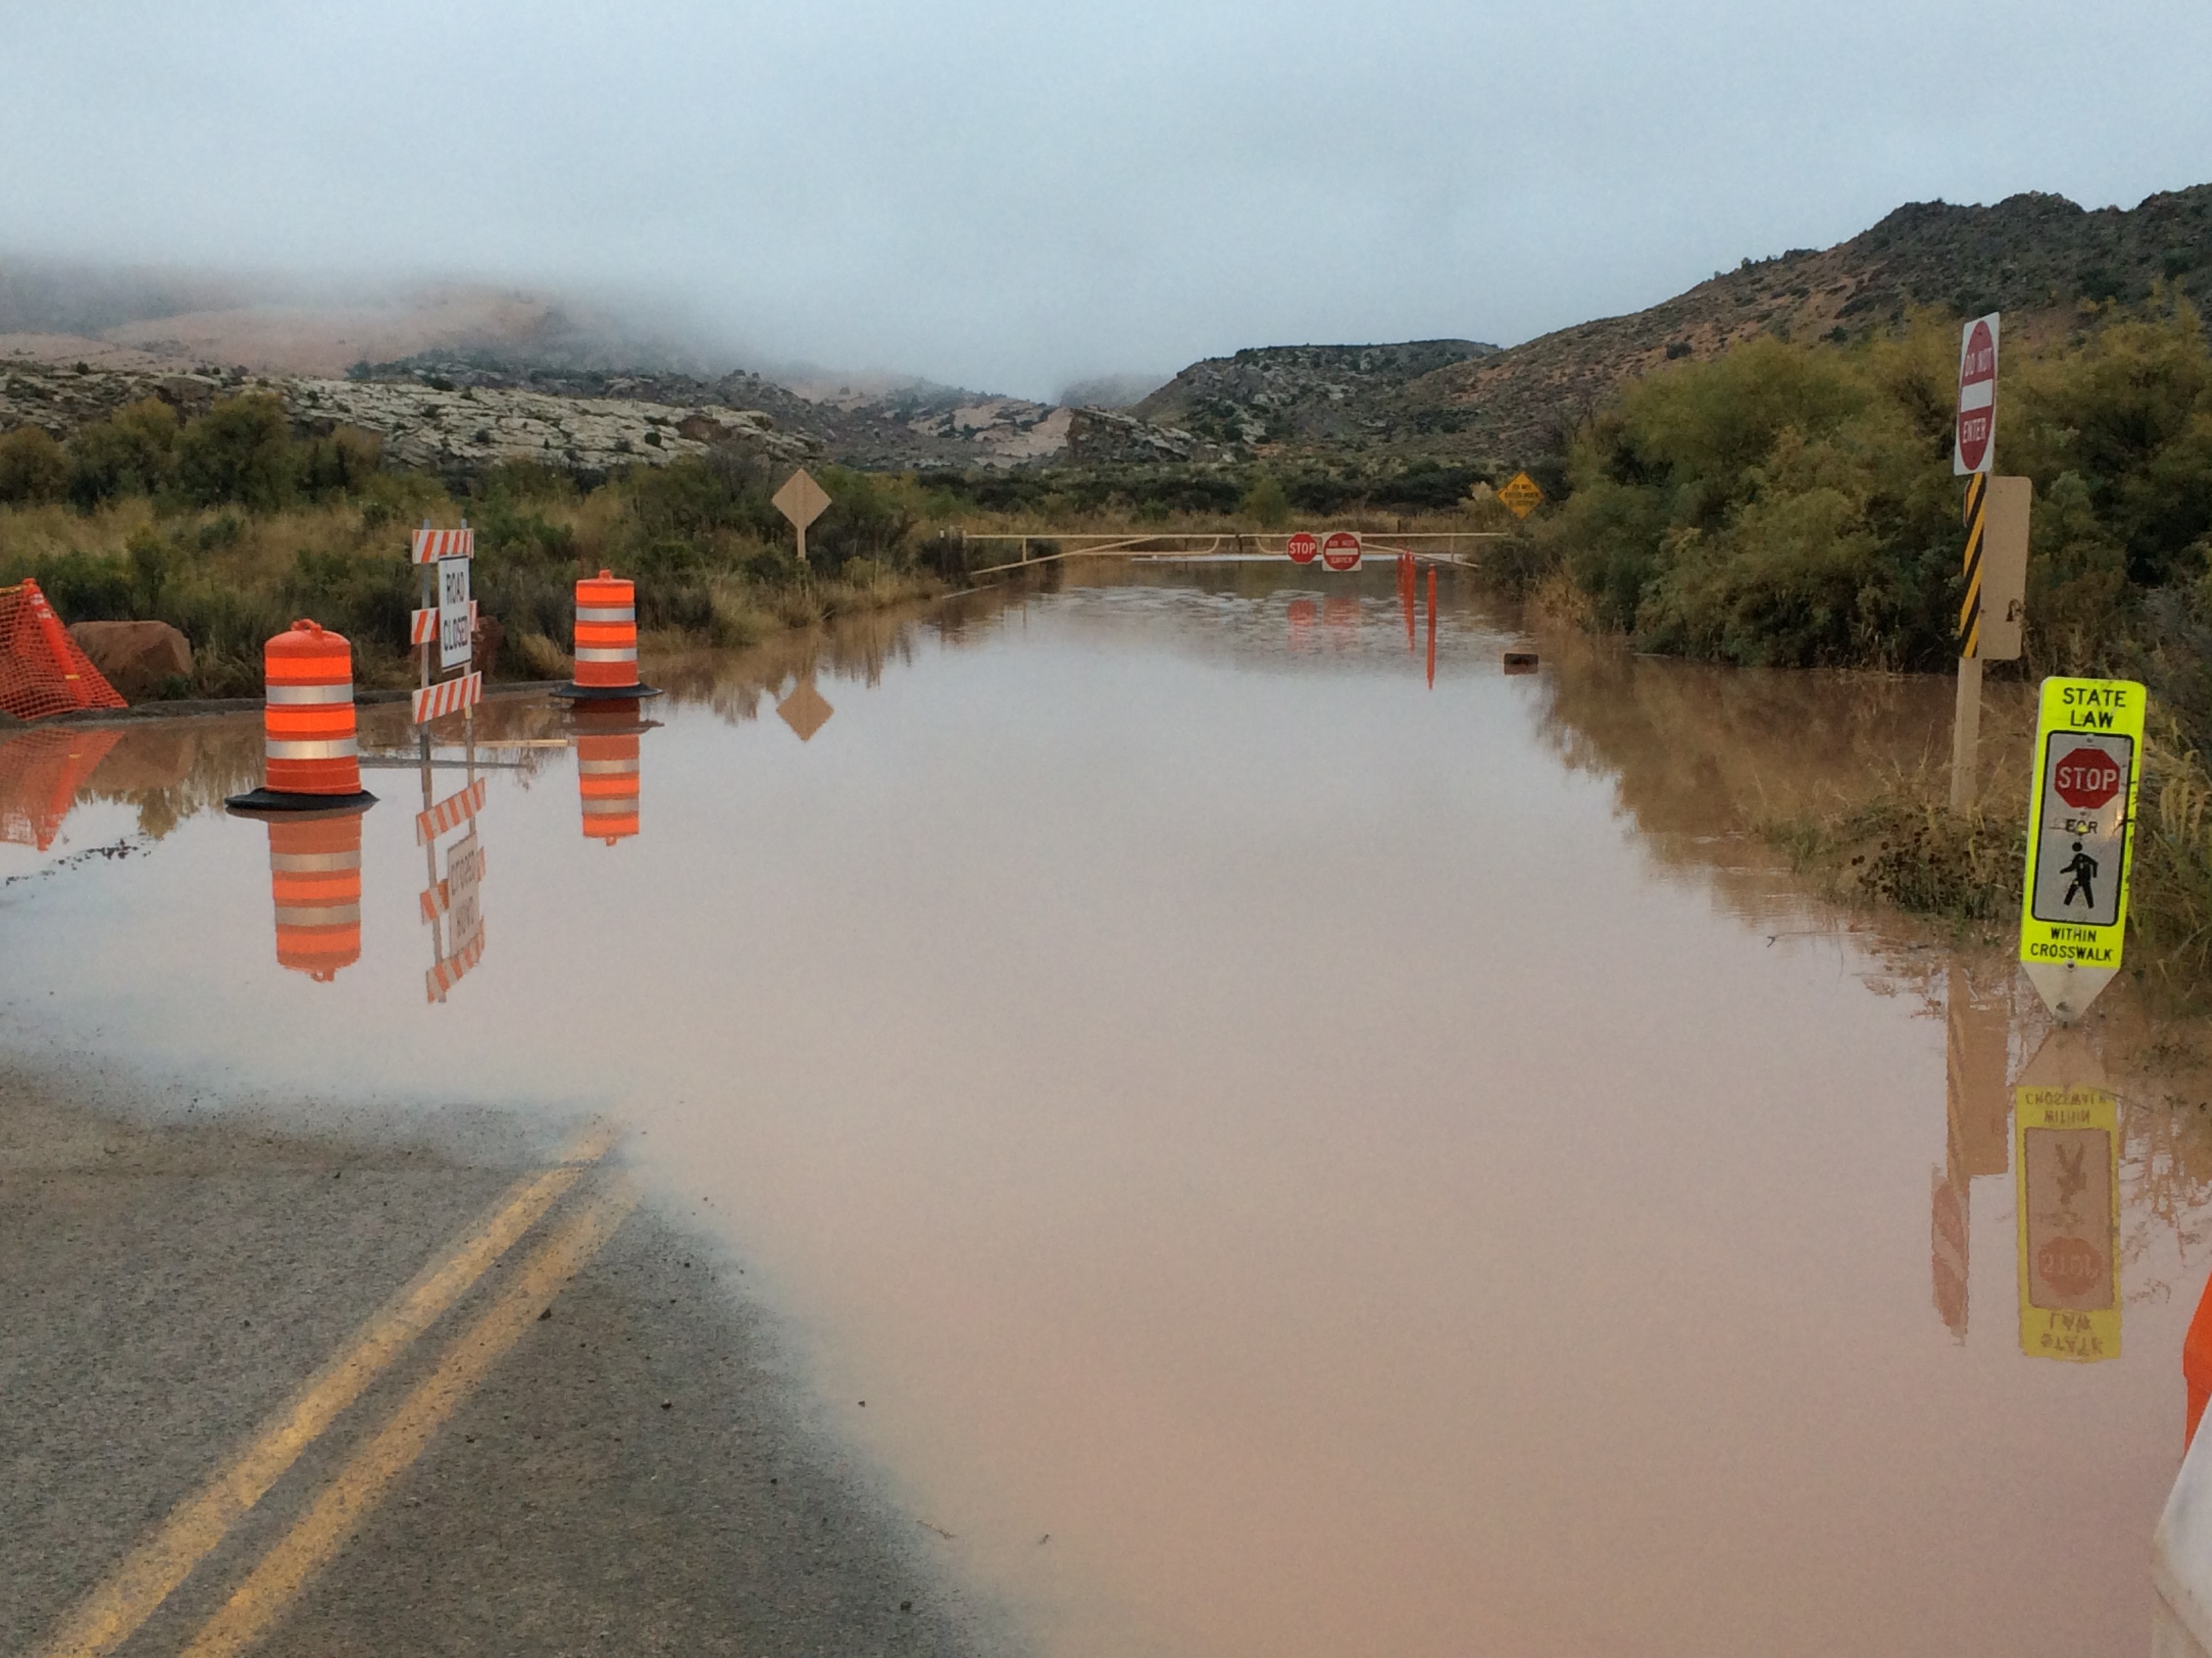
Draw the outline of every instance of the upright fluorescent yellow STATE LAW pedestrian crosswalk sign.
<instances>
[{"instance_id":1,"label":"upright fluorescent yellow STATE LAW pedestrian crosswalk sign","mask_svg":"<svg viewBox=\"0 0 2212 1658\"><path fill-rule=\"evenodd\" d=\"M2044 681L2020 895L2020 959L2028 966L2119 966L2146 705L2130 679Z\"/></svg>"}]
</instances>

